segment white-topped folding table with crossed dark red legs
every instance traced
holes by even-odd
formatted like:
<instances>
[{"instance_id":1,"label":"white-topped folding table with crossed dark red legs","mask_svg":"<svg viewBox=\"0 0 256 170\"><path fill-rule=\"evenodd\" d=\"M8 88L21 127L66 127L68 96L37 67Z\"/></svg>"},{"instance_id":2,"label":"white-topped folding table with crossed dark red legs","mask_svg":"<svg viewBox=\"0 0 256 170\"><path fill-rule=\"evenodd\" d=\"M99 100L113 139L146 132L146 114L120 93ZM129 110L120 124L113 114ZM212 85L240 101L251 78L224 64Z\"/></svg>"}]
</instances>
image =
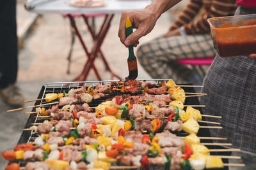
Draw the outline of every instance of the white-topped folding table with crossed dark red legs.
<instances>
[{"instance_id":1,"label":"white-topped folding table with crossed dark red legs","mask_svg":"<svg viewBox=\"0 0 256 170\"><path fill-rule=\"evenodd\" d=\"M83 46L84 52L86 53L86 57L88 57L86 64L84 64L83 71L81 72L81 74L79 74L79 76L74 78L73 81L85 81L90 72L90 69L94 70L98 80L102 80L95 65L93 64L98 53L102 56L102 59L106 68L111 73L111 79L113 80L113 77L116 77L119 80L121 80L122 78L120 78L115 73L113 73L113 71L111 71L108 62L106 61L102 53L102 50L100 50L100 46L102 45L102 42L106 37L106 34L111 24L111 20L115 13L122 13L122 11L124 10L141 10L150 3L151 3L150 0L137 0L137 1L136 0L106 0L106 5L99 8L76 8L76 7L70 6L67 0L56 0L56 1L52 1L51 3L46 3L40 6L36 6L30 11L40 13L40 14L45 14L45 13L68 14L67 17L70 19L70 24L74 29L74 31L76 32L76 36L79 38L81 45ZM100 31L97 34L95 34L95 32L93 32L92 26L88 23L88 18L97 17L99 14L104 14L105 19L102 22ZM90 52L86 48L83 38L81 37L79 30L77 29L77 25L74 20L74 17L77 17L77 16L83 17L84 22L88 27L88 31L92 35L93 47Z\"/></svg>"}]
</instances>

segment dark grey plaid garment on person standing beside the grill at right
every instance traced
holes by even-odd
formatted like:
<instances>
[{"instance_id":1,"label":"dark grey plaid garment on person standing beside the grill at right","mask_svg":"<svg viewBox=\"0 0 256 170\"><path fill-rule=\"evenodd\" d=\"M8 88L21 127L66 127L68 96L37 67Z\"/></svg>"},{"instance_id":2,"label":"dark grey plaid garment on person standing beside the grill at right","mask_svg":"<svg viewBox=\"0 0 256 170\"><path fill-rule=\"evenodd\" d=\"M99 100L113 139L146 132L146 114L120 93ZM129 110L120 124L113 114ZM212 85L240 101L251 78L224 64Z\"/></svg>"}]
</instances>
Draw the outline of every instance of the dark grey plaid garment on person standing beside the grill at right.
<instances>
[{"instance_id":1,"label":"dark grey plaid garment on person standing beside the grill at right","mask_svg":"<svg viewBox=\"0 0 256 170\"><path fill-rule=\"evenodd\" d=\"M237 8L236 13L256 10ZM256 153L256 59L217 55L205 76L202 92L208 94L200 97L200 104L207 106L204 114L222 117L207 118L223 127L210 129L211 136L228 138L232 147Z\"/></svg>"}]
</instances>

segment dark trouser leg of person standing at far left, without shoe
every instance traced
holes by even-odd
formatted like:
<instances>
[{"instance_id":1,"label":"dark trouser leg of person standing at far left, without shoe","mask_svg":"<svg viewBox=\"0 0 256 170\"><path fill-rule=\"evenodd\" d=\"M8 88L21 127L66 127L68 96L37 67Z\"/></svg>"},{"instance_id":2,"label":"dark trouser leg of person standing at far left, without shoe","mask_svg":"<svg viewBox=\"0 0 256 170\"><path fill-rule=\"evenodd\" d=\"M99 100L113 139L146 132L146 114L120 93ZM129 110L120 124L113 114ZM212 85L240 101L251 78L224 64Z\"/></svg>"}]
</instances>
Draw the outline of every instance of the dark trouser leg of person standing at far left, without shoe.
<instances>
[{"instance_id":1,"label":"dark trouser leg of person standing at far left, without shoe","mask_svg":"<svg viewBox=\"0 0 256 170\"><path fill-rule=\"evenodd\" d=\"M0 5L0 88L15 83L17 78L16 1Z\"/></svg>"}]
</instances>

